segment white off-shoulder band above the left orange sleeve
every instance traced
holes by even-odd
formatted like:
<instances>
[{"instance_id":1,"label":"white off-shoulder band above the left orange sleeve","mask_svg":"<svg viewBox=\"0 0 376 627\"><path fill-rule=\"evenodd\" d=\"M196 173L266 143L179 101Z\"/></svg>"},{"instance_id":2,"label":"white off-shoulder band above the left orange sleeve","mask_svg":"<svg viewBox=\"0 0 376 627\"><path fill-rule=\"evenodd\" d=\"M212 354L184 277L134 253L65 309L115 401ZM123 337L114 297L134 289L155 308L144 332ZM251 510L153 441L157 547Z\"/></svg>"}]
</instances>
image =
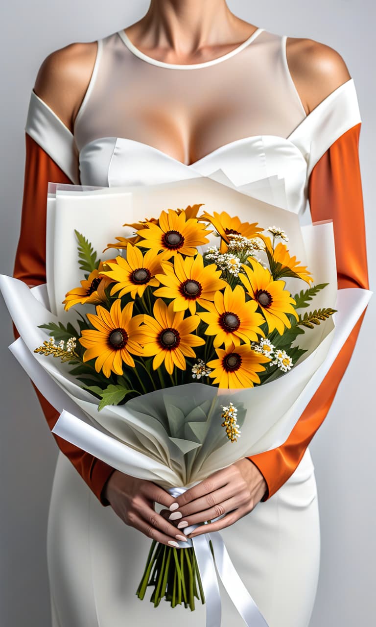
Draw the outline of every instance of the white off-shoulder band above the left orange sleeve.
<instances>
[{"instance_id":1,"label":"white off-shoulder band above the left orange sleeve","mask_svg":"<svg viewBox=\"0 0 376 627\"><path fill-rule=\"evenodd\" d=\"M53 110L31 92L25 131L74 184L80 184L75 138Z\"/></svg>"}]
</instances>

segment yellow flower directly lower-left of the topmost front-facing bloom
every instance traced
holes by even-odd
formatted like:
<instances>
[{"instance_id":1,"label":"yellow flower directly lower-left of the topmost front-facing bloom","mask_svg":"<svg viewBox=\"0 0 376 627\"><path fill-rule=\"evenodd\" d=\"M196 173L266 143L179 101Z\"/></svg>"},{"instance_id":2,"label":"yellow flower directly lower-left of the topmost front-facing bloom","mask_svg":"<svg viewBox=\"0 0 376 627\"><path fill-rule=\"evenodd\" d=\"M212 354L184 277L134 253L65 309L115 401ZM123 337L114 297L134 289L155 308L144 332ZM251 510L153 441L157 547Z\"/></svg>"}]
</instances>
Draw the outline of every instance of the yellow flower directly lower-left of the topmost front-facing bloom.
<instances>
[{"instance_id":1,"label":"yellow flower directly lower-left of the topmost front-facing bloom","mask_svg":"<svg viewBox=\"0 0 376 627\"><path fill-rule=\"evenodd\" d=\"M111 290L111 295L120 291L119 298L130 293L132 298L136 295L142 296L148 285L158 287L159 281L155 278L157 272L162 272L161 261L165 254L155 255L154 251L148 250L145 255L136 246L128 244L127 259L118 256L113 263L107 262L110 270L102 272L104 277L108 277L116 284Z\"/></svg>"}]
</instances>

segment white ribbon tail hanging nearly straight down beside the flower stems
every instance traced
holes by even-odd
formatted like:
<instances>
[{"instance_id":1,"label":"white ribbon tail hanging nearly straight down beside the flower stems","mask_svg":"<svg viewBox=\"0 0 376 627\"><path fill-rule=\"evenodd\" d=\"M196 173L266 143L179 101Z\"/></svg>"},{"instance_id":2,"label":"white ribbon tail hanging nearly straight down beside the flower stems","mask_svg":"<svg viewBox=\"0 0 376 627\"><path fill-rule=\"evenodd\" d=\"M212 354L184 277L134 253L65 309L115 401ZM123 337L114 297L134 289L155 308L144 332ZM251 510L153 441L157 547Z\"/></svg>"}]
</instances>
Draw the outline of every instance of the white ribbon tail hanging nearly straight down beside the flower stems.
<instances>
[{"instance_id":1,"label":"white ribbon tail hanging nearly straight down beside the flower stems","mask_svg":"<svg viewBox=\"0 0 376 627\"><path fill-rule=\"evenodd\" d=\"M201 576L206 603L206 627L221 626L221 593L212 557L209 539L206 534L192 538L197 565Z\"/></svg>"}]
</instances>

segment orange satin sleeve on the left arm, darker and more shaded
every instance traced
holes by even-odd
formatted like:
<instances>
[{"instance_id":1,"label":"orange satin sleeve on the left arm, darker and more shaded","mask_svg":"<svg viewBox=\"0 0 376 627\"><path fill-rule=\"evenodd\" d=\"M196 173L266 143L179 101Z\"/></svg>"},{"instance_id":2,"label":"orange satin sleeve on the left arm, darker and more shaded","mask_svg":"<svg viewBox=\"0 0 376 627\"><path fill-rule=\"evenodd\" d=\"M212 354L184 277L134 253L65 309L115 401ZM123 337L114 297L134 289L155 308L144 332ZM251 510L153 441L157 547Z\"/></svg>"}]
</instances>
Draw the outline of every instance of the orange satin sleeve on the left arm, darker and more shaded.
<instances>
[{"instance_id":1,"label":"orange satin sleeve on the left arm, darker and more shaded","mask_svg":"<svg viewBox=\"0 0 376 627\"><path fill-rule=\"evenodd\" d=\"M30 286L46 282L46 201L49 181L71 183L53 159L26 134L21 231L13 276ZM14 335L18 337L16 329L14 329ZM34 389L48 426L52 429L59 413L35 386ZM55 434L53 436L61 452L75 466L102 505L108 505L108 501L102 497L102 490L114 469L59 436Z\"/></svg>"}]
</instances>

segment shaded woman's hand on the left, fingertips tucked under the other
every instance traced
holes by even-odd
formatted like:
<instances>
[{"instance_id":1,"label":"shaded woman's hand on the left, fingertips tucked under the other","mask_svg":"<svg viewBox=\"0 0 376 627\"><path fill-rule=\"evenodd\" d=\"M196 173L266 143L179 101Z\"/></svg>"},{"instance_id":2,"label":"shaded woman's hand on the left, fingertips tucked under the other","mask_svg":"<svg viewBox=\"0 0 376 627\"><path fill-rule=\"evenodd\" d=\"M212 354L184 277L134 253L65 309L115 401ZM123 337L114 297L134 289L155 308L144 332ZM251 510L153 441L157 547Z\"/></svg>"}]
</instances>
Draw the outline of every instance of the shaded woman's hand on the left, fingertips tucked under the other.
<instances>
[{"instance_id":1,"label":"shaded woman's hand on the left, fingertips tucked under the other","mask_svg":"<svg viewBox=\"0 0 376 627\"><path fill-rule=\"evenodd\" d=\"M135 527L152 540L175 547L179 546L176 540L187 541L172 523L155 512L154 503L170 507L175 502L155 483L115 470L103 489L103 495L126 525Z\"/></svg>"}]
</instances>

